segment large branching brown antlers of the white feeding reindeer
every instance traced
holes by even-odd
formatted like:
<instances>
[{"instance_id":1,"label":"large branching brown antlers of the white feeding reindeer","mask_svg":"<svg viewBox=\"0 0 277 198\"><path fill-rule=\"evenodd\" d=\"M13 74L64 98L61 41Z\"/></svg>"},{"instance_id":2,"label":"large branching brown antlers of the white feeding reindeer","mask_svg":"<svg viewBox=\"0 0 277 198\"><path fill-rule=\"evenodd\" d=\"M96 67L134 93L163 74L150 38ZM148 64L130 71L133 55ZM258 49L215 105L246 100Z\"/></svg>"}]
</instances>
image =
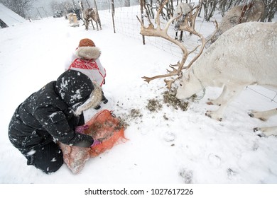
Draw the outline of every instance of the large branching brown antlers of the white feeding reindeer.
<instances>
[{"instance_id":1,"label":"large branching brown antlers of the white feeding reindeer","mask_svg":"<svg viewBox=\"0 0 277 198\"><path fill-rule=\"evenodd\" d=\"M203 1L203 0L202 0ZM194 59L192 59L192 61L188 64L188 66L184 67L186 60L188 59L188 56L192 53L195 52L195 50L200 46L198 45L197 47L195 47L194 50L192 50L191 52L188 52L187 48L182 44L182 42L175 40L173 37L170 37L168 35L168 28L170 27L170 24L177 18L180 18L180 16L182 16L182 13L180 13L180 15L176 16L175 18L173 18L172 16L170 17L170 20L165 24L165 27L162 29L161 28L161 22L160 22L160 14L161 11L163 9L163 6L165 4L168 3L168 0L165 0L163 2L163 4L160 6L160 8L157 11L157 16L156 16L156 28L155 25L153 25L153 23L150 20L150 17L148 16L148 21L149 21L149 25L146 28L142 21L139 19L138 16L136 16L139 20L139 22L141 23L141 35L145 35L145 36L151 36L151 37L163 37L165 40L168 40L170 42L173 42L175 45L177 45L178 47L180 47L180 49L183 52L183 57L181 59L181 62L178 62L178 64L175 65L170 65L170 68L173 69L172 71L168 71L168 74L163 74L163 75L158 75L158 76L153 76L153 77L146 77L143 76L142 78L144 79L144 81L150 83L150 81L153 81L156 78L166 78L169 76L176 76L176 75L180 75L182 69L188 68L192 65L193 62L195 62L195 60L200 57L200 54L202 53L202 51L204 50L205 44L206 44L206 40L205 37L198 33L195 30L195 19L197 17L197 13L200 11L201 8L201 4L202 1L200 2L200 4L198 6L196 6L195 8L192 9L195 10L195 13L192 14L192 11L190 11L190 13L188 13L187 16L185 16L185 18L183 18L183 24L180 25L180 30L185 30L189 33L192 33L192 35L196 35L197 37L200 37L200 40L202 42L201 48L200 48L200 52L197 54L197 56L194 57ZM178 69L175 69L173 66L177 66ZM170 89L172 86L172 83L174 83L178 78L175 78L173 80L164 80L166 83L166 86Z\"/></svg>"}]
</instances>

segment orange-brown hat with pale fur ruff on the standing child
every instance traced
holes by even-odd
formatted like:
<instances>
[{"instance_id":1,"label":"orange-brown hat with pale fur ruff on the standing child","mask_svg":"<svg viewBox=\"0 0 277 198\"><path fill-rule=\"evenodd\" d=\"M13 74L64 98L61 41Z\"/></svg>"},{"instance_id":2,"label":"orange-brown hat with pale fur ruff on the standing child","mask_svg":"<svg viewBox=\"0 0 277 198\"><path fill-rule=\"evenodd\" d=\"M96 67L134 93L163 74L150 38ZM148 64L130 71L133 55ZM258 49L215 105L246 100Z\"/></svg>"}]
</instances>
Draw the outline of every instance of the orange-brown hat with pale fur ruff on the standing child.
<instances>
[{"instance_id":1,"label":"orange-brown hat with pale fur ruff on the standing child","mask_svg":"<svg viewBox=\"0 0 277 198\"><path fill-rule=\"evenodd\" d=\"M80 40L75 54L80 59L98 59L101 55L101 51L95 46L94 42L88 38Z\"/></svg>"}]
</instances>

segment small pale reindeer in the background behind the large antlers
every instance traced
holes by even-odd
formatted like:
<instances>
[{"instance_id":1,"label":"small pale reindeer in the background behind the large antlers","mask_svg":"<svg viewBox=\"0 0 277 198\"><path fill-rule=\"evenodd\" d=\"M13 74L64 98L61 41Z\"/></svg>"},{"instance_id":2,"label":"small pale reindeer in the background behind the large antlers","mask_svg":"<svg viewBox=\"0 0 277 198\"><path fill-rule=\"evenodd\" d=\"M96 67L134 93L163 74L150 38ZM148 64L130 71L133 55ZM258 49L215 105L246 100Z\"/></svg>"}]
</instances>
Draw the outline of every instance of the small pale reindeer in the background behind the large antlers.
<instances>
[{"instance_id":1,"label":"small pale reindeer in the background behind the large antlers","mask_svg":"<svg viewBox=\"0 0 277 198\"><path fill-rule=\"evenodd\" d=\"M180 19L174 25L175 40L178 40L178 31L180 30L180 25L183 23L185 16L187 16L191 10L192 10L192 5L187 3L180 3L178 4L178 6L176 6L174 10L174 16L179 16L181 13L182 13L182 16L180 16ZM179 40L183 41L183 30L180 30Z\"/></svg>"}]
</instances>

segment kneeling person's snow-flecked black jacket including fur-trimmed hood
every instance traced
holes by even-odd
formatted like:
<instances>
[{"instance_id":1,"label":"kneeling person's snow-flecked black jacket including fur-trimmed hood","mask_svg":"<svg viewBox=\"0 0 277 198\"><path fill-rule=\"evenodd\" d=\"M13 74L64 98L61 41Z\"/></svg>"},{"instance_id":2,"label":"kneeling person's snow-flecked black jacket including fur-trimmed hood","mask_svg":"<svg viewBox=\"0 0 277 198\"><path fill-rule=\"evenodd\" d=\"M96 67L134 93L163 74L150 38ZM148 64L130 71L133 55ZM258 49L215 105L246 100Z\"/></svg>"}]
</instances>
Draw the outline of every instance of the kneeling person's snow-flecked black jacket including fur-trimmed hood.
<instances>
[{"instance_id":1,"label":"kneeling person's snow-flecked black jacket including fur-trimmed hood","mask_svg":"<svg viewBox=\"0 0 277 198\"><path fill-rule=\"evenodd\" d=\"M101 98L102 89L85 74L67 70L16 108L9 124L9 139L21 151L54 139L89 147L92 137L76 133L75 127L85 124L82 111L97 106Z\"/></svg>"}]
</instances>

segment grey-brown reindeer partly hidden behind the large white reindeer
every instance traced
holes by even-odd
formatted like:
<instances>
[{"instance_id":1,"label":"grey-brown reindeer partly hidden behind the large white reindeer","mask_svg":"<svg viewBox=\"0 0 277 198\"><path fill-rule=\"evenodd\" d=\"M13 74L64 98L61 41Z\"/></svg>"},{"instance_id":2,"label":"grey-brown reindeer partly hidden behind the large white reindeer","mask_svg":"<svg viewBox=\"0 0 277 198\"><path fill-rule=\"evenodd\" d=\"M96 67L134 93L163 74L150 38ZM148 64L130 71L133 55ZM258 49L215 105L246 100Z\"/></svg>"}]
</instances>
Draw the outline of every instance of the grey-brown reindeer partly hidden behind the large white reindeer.
<instances>
[{"instance_id":1,"label":"grey-brown reindeer partly hidden behind the large white reindeer","mask_svg":"<svg viewBox=\"0 0 277 198\"><path fill-rule=\"evenodd\" d=\"M265 6L262 0L253 0L250 4L242 4L231 8L222 18L222 21L219 23L218 29L213 33L213 36L207 38L210 39L210 41L207 42L206 47L209 47L220 35L222 35L222 33L234 27L234 25L259 21L264 14L264 8Z\"/></svg>"}]
</instances>

